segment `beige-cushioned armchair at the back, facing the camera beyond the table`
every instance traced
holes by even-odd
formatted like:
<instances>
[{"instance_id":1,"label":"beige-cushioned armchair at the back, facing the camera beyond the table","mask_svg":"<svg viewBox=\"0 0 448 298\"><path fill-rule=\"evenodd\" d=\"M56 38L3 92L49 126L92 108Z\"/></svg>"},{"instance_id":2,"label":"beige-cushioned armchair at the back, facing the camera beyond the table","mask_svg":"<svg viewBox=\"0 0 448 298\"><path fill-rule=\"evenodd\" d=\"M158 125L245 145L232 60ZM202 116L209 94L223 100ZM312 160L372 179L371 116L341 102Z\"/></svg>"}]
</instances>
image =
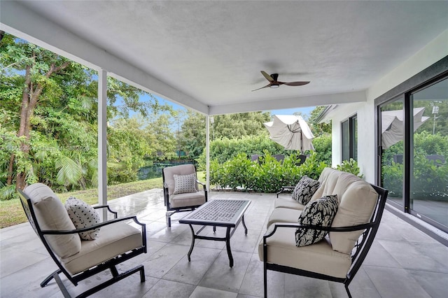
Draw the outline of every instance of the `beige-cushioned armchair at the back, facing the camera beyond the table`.
<instances>
[{"instance_id":1,"label":"beige-cushioned armchair at the back, facing the camera beyond the table","mask_svg":"<svg viewBox=\"0 0 448 298\"><path fill-rule=\"evenodd\" d=\"M197 180L194 164L167 166L162 170L167 226L176 212L193 211L207 201L207 187ZM202 190L198 185L202 185Z\"/></svg>"}]
</instances>

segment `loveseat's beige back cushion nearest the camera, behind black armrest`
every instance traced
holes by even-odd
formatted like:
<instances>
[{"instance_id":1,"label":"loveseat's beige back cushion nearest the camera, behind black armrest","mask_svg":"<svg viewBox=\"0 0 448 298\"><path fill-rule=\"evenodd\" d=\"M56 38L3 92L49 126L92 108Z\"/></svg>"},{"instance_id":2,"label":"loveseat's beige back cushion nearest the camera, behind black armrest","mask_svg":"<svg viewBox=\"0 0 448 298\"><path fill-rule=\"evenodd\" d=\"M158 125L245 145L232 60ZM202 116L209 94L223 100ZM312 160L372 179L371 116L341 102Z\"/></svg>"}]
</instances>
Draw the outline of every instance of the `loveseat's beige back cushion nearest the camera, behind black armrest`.
<instances>
[{"instance_id":1,"label":"loveseat's beige back cushion nearest the camera, behind black armrest","mask_svg":"<svg viewBox=\"0 0 448 298\"><path fill-rule=\"evenodd\" d=\"M351 227L369 222L377 199L378 194L369 183L362 179L352 183L342 194L339 209L331 226ZM345 233L330 232L332 248L341 253L350 253L362 233L363 230Z\"/></svg>"}]
</instances>

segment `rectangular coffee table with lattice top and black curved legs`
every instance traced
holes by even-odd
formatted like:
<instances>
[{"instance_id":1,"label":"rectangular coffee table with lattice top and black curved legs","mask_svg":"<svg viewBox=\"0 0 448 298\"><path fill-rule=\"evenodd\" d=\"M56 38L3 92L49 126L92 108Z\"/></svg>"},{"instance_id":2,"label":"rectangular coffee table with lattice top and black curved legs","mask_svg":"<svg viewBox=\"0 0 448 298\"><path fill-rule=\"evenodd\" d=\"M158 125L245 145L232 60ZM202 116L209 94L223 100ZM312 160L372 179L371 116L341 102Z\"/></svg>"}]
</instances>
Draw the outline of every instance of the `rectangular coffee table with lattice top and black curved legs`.
<instances>
[{"instance_id":1,"label":"rectangular coffee table with lattice top and black curved legs","mask_svg":"<svg viewBox=\"0 0 448 298\"><path fill-rule=\"evenodd\" d=\"M195 239L225 241L230 267L233 267L232 251L230 250L230 237L232 237L235 229L239 225L239 222L243 222L244 233L247 235L247 227L244 222L244 212L250 204L250 200L214 199L207 201L195 211L186 215L185 218L179 220L180 223L190 225L191 246L188 251L188 262L191 260L190 255L195 247ZM202 225L202 227L195 232L193 225ZM227 231L225 233L225 237L201 236L200 232L207 226L213 226L214 232L216 232L216 227L226 227Z\"/></svg>"}]
</instances>

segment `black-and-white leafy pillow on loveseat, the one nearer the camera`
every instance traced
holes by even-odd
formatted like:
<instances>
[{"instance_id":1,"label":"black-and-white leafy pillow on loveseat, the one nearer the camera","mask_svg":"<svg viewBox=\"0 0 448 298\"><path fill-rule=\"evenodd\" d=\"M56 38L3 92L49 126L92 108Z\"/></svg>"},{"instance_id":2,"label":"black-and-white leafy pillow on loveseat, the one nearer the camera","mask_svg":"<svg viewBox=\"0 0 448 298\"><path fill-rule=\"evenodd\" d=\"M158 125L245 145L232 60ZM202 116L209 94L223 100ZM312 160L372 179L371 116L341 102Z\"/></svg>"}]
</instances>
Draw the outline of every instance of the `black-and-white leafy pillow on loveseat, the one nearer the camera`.
<instances>
[{"instance_id":1,"label":"black-and-white leafy pillow on loveseat, the one nearer the camera","mask_svg":"<svg viewBox=\"0 0 448 298\"><path fill-rule=\"evenodd\" d=\"M318 227L331 227L335 218L337 207L337 194L321 197L309 202L300 213L297 222L300 225L316 225ZM321 241L328 232L317 229L298 228L295 231L295 246L309 246Z\"/></svg>"}]
</instances>

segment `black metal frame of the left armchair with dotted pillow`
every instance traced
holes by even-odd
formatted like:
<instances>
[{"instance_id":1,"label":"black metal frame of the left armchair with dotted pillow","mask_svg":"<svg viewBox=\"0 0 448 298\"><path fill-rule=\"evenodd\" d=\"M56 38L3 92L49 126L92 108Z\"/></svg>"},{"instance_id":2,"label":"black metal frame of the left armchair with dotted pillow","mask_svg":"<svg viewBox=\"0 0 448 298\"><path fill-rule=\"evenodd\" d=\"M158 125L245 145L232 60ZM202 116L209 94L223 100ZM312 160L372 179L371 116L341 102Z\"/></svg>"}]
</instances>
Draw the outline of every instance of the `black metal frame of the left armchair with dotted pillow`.
<instances>
[{"instance_id":1,"label":"black metal frame of the left armchair with dotted pillow","mask_svg":"<svg viewBox=\"0 0 448 298\"><path fill-rule=\"evenodd\" d=\"M71 297L69 294L69 291L66 289L64 283L62 282L61 278L59 277L59 274L63 273L73 285L78 285L80 281L85 280L86 278L89 278L90 276L93 276L95 274L98 274L99 272L102 272L104 270L111 270L112 278L110 278L107 281L104 281L103 283L100 283L99 285L94 286L93 288L90 288L88 290L85 290L84 292L80 293L76 297L87 297L90 296L99 290L102 290L104 288L107 288L109 285L112 285L113 283L116 283L118 281L121 281L123 278L126 278L127 276L130 276L134 273L140 272L140 281L143 283L145 281L145 269L144 265L139 265L137 267L134 267L130 270L127 270L121 274L118 273L118 270L116 268L116 265L125 262L126 260L130 260L132 257L135 257L137 255L140 255L141 253L146 253L147 247L146 247L146 225L144 223L139 222L137 220L137 216L127 216L125 218L117 218L117 213L115 211L112 211L111 208L109 208L109 205L106 206L93 206L93 208L107 208L107 210L111 213L113 213L113 220L108 220L106 222L101 222L96 225L92 225L91 227L85 227L83 229L73 229L73 230L43 230L38 224L38 221L36 219L36 214L34 213L34 209L31 203L31 199L22 192L22 190L18 190L18 194L20 197L20 202L22 203L22 207L27 215L27 218L29 220L29 223L31 224L31 227L33 227L34 232L36 232L39 239L41 239L43 246L47 249L48 253L50 254L50 257L52 260L56 263L58 269L52 274L50 274L48 277L46 277L42 283L41 287L45 287L52 278L55 278L55 281L57 285L59 286L59 289L62 292L62 295L64 297ZM97 264L94 267L91 267L90 269L87 269L85 271L82 271L78 274L71 275L66 269L62 266L61 262L59 261L58 257L53 253L52 249L50 248L50 245L45 239L45 235L66 235L66 234L77 234L80 232L87 232L91 229L97 229L98 227L104 227L106 225L111 225L115 222L121 222L123 220L134 220L134 222L137 225L141 226L141 237L142 237L142 243L143 245L139 248L135 248L134 250L130 250L127 253L123 253L122 255L117 255L116 257L113 257L111 260L107 260L106 262L102 262L101 264ZM93 240L94 241L94 240Z\"/></svg>"}]
</instances>

